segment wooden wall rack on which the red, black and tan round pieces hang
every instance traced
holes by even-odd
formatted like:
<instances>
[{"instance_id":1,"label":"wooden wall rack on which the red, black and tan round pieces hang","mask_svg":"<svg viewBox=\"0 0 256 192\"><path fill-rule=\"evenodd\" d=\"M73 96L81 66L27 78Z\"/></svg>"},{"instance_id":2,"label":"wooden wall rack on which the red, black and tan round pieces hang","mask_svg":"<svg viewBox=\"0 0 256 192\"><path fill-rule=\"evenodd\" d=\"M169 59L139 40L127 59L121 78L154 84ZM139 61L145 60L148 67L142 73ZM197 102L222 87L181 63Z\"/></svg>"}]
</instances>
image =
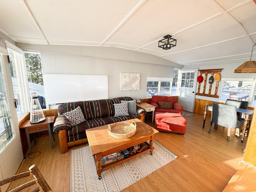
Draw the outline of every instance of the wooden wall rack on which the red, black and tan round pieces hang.
<instances>
[{"instance_id":1,"label":"wooden wall rack on which the red, black and tan round pieces hang","mask_svg":"<svg viewBox=\"0 0 256 192\"><path fill-rule=\"evenodd\" d=\"M217 95L219 82L215 82L214 74L220 74L221 70L222 69L199 70L200 76L204 77L204 81L202 82L202 83L204 83L204 88L203 88L202 92L200 93L201 83L199 83L196 95L219 98L219 96ZM208 74L210 74L210 76L214 78L214 83L213 84L208 83L209 84L209 90L208 90L208 93L207 93L206 92L206 86L208 86L208 84L207 84L207 80L209 79L209 78L207 78ZM211 94L211 92L212 92L212 85L215 85L215 92L214 92L214 94Z\"/></svg>"}]
</instances>

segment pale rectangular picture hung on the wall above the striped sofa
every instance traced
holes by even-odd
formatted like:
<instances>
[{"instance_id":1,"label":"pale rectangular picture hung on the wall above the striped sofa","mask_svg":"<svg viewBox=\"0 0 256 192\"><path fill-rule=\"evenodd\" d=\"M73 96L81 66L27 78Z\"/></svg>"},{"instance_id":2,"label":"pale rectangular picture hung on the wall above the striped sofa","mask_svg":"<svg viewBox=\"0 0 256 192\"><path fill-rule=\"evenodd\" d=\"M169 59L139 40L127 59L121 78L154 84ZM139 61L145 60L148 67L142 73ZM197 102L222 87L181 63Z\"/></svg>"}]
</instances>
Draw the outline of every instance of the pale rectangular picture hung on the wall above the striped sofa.
<instances>
[{"instance_id":1,"label":"pale rectangular picture hung on the wall above the striped sofa","mask_svg":"<svg viewBox=\"0 0 256 192\"><path fill-rule=\"evenodd\" d=\"M121 91L139 90L140 74L139 73L120 73Z\"/></svg>"}]
</instances>

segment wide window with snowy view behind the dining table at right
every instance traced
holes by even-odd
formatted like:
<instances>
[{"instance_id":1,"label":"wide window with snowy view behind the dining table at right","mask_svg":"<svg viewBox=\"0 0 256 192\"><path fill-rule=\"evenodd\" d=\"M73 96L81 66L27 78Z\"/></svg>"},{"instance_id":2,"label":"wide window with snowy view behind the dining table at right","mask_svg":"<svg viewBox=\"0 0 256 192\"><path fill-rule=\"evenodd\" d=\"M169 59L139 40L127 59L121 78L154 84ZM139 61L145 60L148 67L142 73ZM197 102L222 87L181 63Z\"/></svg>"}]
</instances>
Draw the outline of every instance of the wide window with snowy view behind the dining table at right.
<instances>
[{"instance_id":1,"label":"wide window with snowy view behind the dining table at right","mask_svg":"<svg viewBox=\"0 0 256 192\"><path fill-rule=\"evenodd\" d=\"M248 78L244 80L228 80L222 79L222 88L220 100L227 99L248 101L249 105L255 106L256 101L255 88L253 87L253 79ZM251 96L252 95L252 96Z\"/></svg>"}]
</instances>

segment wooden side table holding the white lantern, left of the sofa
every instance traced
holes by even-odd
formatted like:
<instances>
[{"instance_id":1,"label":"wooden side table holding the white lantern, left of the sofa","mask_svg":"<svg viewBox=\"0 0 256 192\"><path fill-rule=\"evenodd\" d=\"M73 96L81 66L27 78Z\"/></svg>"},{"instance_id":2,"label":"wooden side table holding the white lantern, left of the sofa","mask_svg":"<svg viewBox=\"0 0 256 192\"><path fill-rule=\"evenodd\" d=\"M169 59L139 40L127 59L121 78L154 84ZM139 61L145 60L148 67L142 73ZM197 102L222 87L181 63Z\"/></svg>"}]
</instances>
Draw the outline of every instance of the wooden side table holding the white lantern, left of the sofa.
<instances>
[{"instance_id":1,"label":"wooden side table holding the white lantern, left of the sofa","mask_svg":"<svg viewBox=\"0 0 256 192\"><path fill-rule=\"evenodd\" d=\"M48 130L51 147L53 148L52 136L53 136L54 141L55 141L55 138L54 138L53 130L51 129L50 124L52 124L54 122L54 119L55 119L55 116L46 117L44 122L40 122L40 123L36 123L36 124L31 124L30 120L26 120L22 124L22 126L20 126L20 129L25 129L26 130L26 137L27 137L27 140L28 140L28 150L29 150L30 155L32 154L30 137L29 137L30 133L36 133L36 132ZM46 125L47 125L47 128L44 127ZM36 145L36 138L35 137L34 137L34 144Z\"/></svg>"}]
</instances>

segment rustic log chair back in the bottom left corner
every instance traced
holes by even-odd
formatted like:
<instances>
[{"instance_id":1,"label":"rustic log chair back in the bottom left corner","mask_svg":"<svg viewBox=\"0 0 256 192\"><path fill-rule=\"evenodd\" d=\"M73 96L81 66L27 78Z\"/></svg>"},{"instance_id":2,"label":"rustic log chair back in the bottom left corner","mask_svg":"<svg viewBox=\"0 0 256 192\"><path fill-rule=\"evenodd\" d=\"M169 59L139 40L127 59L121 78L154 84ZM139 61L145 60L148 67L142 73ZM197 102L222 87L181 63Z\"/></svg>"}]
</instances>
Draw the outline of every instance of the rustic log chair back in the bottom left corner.
<instances>
[{"instance_id":1,"label":"rustic log chair back in the bottom left corner","mask_svg":"<svg viewBox=\"0 0 256 192\"><path fill-rule=\"evenodd\" d=\"M29 168L29 171L27 171L27 172L16 174L14 176L10 176L6 179L1 180L0 181L0 192L1 192L1 186L2 185L13 182L13 181L18 180L18 179L28 177L30 175L34 176L33 180L31 180L29 182L26 182L24 184L21 184L20 186L10 190L9 192L18 192L20 190L23 190L23 189L25 189L29 186L32 186L32 185L36 184L36 183L38 183L39 186L36 187L31 192L39 192L41 189L44 190L44 192L52 192L52 189L50 188L50 186L48 185L48 183L46 182L46 180L44 179L44 177L42 176L40 170L37 168L36 165L32 165Z\"/></svg>"}]
</instances>

